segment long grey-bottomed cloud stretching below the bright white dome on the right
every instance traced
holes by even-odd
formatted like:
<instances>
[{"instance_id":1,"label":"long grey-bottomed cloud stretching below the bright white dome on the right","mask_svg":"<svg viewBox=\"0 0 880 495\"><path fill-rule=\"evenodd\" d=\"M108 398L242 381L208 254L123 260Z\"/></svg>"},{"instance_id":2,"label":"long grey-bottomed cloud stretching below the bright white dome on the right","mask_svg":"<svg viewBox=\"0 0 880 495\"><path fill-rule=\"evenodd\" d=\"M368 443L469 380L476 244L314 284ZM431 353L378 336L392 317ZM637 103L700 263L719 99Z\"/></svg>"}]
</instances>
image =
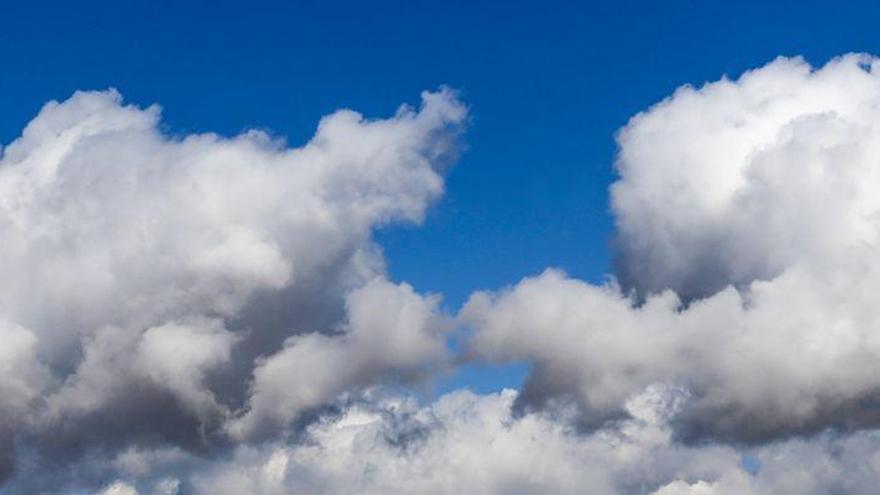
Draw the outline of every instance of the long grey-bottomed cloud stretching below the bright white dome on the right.
<instances>
[{"instance_id":1,"label":"long grey-bottomed cloud stretching below the bright white dome on the right","mask_svg":"<svg viewBox=\"0 0 880 495\"><path fill-rule=\"evenodd\" d=\"M637 305L617 287L548 271L474 296L464 314L481 356L534 363L523 405L573 399L596 425L645 388L670 385L686 396L682 435L763 441L880 422L873 272L854 288L789 271L684 309L672 292Z\"/></svg>"}]
</instances>

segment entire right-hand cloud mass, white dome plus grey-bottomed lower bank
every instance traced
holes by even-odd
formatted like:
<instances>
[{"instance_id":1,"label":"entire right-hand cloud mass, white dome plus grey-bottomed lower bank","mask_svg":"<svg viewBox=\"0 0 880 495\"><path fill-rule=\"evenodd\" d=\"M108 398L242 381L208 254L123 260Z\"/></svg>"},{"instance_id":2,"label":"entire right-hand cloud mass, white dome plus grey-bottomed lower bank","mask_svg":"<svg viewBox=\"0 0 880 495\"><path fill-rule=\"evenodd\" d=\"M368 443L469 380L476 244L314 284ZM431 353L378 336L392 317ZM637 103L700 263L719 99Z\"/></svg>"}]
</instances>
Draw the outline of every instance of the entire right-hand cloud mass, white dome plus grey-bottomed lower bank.
<instances>
[{"instance_id":1,"label":"entire right-hand cloud mass, white dome plus grey-bottomed lower bank","mask_svg":"<svg viewBox=\"0 0 880 495\"><path fill-rule=\"evenodd\" d=\"M521 407L573 401L590 427L658 384L686 391L686 439L880 425L878 64L779 59L634 117L622 288L548 271L478 293L475 352L533 363Z\"/></svg>"}]
</instances>

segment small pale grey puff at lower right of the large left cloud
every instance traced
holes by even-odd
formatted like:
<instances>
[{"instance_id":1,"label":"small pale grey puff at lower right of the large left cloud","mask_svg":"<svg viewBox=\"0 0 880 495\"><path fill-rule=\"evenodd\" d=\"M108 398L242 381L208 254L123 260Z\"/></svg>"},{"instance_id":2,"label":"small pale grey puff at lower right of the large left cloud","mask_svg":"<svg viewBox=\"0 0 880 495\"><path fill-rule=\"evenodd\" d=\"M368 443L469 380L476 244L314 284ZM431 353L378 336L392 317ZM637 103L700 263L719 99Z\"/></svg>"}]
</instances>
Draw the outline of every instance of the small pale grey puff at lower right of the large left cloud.
<instances>
[{"instance_id":1,"label":"small pale grey puff at lower right of the large left cloud","mask_svg":"<svg viewBox=\"0 0 880 495\"><path fill-rule=\"evenodd\" d=\"M289 338L254 370L247 412L230 424L236 438L277 430L303 411L326 404L352 386L394 373L417 376L446 355L439 299L382 279L354 290L346 301L342 335Z\"/></svg>"}]
</instances>

